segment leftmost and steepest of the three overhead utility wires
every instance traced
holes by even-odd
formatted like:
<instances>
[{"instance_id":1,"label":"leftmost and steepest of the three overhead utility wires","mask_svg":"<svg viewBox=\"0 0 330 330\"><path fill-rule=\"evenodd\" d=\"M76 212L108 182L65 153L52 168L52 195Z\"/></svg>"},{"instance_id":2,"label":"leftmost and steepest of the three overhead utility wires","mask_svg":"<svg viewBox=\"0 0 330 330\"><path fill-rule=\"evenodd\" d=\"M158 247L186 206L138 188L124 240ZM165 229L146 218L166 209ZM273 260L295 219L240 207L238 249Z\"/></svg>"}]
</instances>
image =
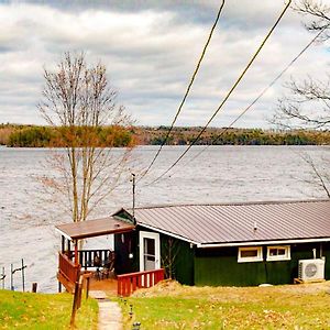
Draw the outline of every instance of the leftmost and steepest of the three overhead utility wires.
<instances>
[{"instance_id":1,"label":"leftmost and steepest of the three overhead utility wires","mask_svg":"<svg viewBox=\"0 0 330 330\"><path fill-rule=\"evenodd\" d=\"M154 165L154 163L155 163L156 158L158 157L158 155L160 155L160 153L161 153L163 146L164 146L165 143L167 142L170 132L173 131L174 124L176 123L177 118L178 118L179 113L182 112L182 109L183 109L183 107L184 107L184 103L186 102L186 99L187 99L187 97L188 97L188 94L189 94L189 91L190 91L190 88L191 88L191 86L193 86L193 84L194 84L194 81L195 81L195 78L196 78L197 73L198 73L198 70L199 70L199 67L200 67L200 64L201 64L201 62L202 62L202 59L204 59L204 56L205 56L205 54L206 54L207 47L209 46L209 43L210 43L211 37L212 37L212 35L213 35L215 29L216 29L216 26L217 26L217 24L218 24L218 21L219 21L219 19L220 19L220 14L221 14L221 12L222 12L223 6L224 6L224 0L222 0L222 2L221 2L221 4L220 4L220 8L219 8L219 10L218 10L218 14L217 14L216 21L215 21L215 23L213 23L213 25L212 25L212 28L211 28L211 31L210 31L209 36L208 36L208 38L207 38L207 42L206 42L206 44L205 44L205 46L204 46L204 48L202 48L201 55L200 55L200 57L199 57L199 59L198 59L197 66L196 66L196 68L195 68L195 70L194 70L194 74L193 74L193 76L191 76L190 82L189 82L189 85L188 85L188 87L187 87L187 89L186 89L185 96L184 96L184 98L183 98L183 100L182 100L182 102L180 102L180 105L179 105L179 107L178 107L178 110L177 110L177 112L176 112L176 114L175 114L175 117L174 117L174 120L173 120L173 122L172 122L172 124L170 124L170 128L169 128L169 130L167 131L166 136L165 136L165 139L163 140L163 142L162 142L160 148L157 150L157 152L156 152L154 158L152 160L152 162L150 163L148 167L145 169L145 172L142 174L142 176L139 178L138 182L140 182L140 180L148 173L148 170L151 169L151 167Z\"/></svg>"}]
</instances>

